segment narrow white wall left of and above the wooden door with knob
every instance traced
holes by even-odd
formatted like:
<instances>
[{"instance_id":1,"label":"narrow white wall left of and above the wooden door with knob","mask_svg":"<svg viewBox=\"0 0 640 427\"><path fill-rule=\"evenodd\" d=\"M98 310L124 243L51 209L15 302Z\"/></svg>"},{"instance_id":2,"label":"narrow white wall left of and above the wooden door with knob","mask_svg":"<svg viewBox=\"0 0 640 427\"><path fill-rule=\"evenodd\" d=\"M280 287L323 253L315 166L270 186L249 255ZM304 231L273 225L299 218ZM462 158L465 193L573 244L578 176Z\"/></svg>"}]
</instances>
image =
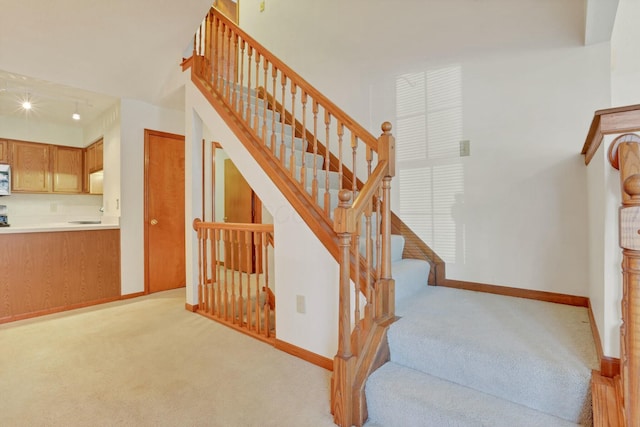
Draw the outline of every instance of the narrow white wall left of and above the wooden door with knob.
<instances>
[{"instance_id":1,"label":"narrow white wall left of and above the wooden door with knob","mask_svg":"<svg viewBox=\"0 0 640 427\"><path fill-rule=\"evenodd\" d=\"M159 108L141 101L130 99L121 101L120 245L122 295L144 291L145 129L184 135L184 113Z\"/></svg>"}]
</instances>

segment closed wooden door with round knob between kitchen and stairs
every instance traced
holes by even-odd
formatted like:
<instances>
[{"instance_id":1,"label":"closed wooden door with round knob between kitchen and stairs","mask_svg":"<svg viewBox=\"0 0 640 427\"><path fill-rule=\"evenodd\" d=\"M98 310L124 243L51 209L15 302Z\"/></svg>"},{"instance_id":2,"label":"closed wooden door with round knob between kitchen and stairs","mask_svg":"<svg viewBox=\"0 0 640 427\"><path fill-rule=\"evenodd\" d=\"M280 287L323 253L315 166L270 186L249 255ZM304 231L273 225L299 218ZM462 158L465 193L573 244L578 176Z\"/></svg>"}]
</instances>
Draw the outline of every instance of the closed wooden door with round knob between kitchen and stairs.
<instances>
[{"instance_id":1,"label":"closed wooden door with round knob between kitchen and stairs","mask_svg":"<svg viewBox=\"0 0 640 427\"><path fill-rule=\"evenodd\" d=\"M184 136L145 129L145 291L184 287Z\"/></svg>"}]
</instances>

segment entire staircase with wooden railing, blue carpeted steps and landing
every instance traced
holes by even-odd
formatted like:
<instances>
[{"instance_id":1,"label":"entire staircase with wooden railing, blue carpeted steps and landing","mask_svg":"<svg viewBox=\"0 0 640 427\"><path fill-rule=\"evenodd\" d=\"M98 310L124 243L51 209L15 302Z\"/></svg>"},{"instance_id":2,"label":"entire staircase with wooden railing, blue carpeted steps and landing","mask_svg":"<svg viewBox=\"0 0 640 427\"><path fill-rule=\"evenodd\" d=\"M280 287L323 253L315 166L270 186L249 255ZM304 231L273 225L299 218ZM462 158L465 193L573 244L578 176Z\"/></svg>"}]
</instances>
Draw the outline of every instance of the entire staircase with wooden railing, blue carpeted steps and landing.
<instances>
[{"instance_id":1,"label":"entire staircase with wooden railing, blue carpeted steps and landing","mask_svg":"<svg viewBox=\"0 0 640 427\"><path fill-rule=\"evenodd\" d=\"M586 309L427 286L437 256L390 234L390 126L376 140L262 49L212 10L192 80L340 263L336 423L590 425Z\"/></svg>"}]
</instances>

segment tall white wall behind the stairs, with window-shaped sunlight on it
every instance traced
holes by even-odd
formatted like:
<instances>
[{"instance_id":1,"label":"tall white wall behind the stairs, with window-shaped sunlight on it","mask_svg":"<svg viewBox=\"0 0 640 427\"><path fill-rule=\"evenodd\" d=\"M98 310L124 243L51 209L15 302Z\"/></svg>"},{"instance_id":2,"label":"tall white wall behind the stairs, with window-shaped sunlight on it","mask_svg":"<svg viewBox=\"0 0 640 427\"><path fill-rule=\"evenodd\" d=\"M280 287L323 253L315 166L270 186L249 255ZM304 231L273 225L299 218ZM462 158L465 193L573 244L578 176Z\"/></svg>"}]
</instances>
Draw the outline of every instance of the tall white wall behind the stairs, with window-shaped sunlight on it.
<instances>
[{"instance_id":1,"label":"tall white wall behind the stairs, with window-shaped sunlight on it","mask_svg":"<svg viewBox=\"0 0 640 427\"><path fill-rule=\"evenodd\" d=\"M240 22L374 135L385 120L397 128L400 76L461 67L471 156L399 165L462 170L456 197L426 208L441 221L427 243L454 248L449 278L588 296L579 153L593 111L610 103L610 47L582 45L583 18L582 1L282 0L260 13L247 0Z\"/></svg>"}]
</instances>

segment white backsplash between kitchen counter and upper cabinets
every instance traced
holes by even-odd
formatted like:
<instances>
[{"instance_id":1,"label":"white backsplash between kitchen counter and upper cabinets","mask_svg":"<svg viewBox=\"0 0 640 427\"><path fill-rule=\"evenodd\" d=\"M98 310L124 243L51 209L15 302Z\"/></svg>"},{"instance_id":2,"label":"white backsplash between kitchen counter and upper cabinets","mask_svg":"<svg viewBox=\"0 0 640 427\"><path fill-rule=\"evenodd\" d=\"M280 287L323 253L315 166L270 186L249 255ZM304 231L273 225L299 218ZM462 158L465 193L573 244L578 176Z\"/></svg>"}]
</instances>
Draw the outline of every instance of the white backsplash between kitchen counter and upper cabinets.
<instances>
[{"instance_id":1,"label":"white backsplash between kitchen counter and upper cabinets","mask_svg":"<svg viewBox=\"0 0 640 427\"><path fill-rule=\"evenodd\" d=\"M9 224L13 226L98 220L102 217L102 195L12 193L0 197L0 205L7 206Z\"/></svg>"}]
</instances>

